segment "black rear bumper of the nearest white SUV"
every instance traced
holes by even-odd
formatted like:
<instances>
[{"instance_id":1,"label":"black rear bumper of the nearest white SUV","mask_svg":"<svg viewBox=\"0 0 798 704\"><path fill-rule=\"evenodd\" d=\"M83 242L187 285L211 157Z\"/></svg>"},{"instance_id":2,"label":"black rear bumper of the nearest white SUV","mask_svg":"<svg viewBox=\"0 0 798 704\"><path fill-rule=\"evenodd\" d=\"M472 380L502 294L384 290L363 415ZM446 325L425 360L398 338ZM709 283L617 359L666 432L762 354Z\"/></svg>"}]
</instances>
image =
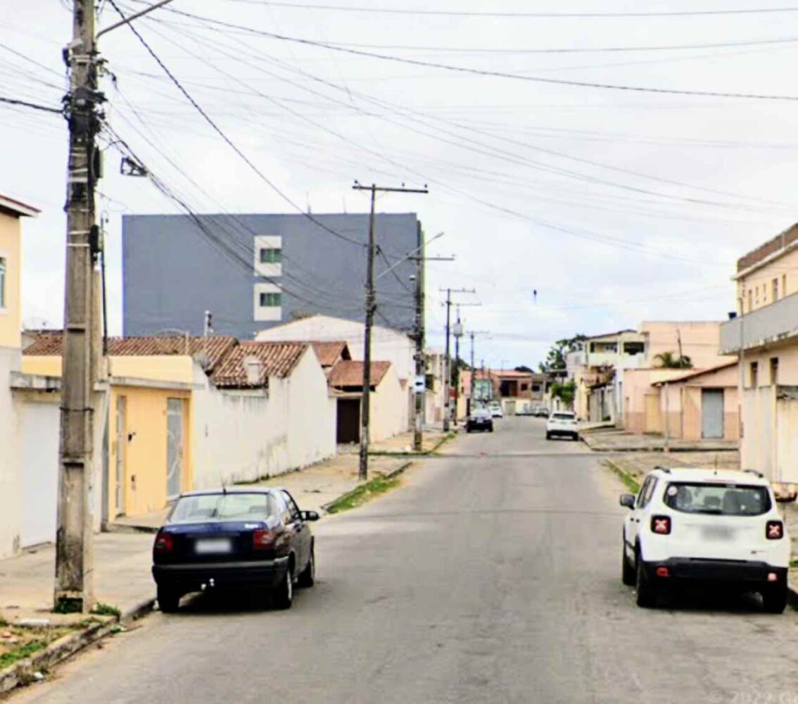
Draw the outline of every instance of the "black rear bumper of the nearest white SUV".
<instances>
[{"instance_id":1,"label":"black rear bumper of the nearest white SUV","mask_svg":"<svg viewBox=\"0 0 798 704\"><path fill-rule=\"evenodd\" d=\"M646 575L662 586L666 583L725 584L730 587L778 586L787 582L787 568L773 567L753 560L690 560L673 557L662 562L644 562ZM667 576L658 575L658 568L666 568ZM768 579L768 575L776 579Z\"/></svg>"}]
</instances>

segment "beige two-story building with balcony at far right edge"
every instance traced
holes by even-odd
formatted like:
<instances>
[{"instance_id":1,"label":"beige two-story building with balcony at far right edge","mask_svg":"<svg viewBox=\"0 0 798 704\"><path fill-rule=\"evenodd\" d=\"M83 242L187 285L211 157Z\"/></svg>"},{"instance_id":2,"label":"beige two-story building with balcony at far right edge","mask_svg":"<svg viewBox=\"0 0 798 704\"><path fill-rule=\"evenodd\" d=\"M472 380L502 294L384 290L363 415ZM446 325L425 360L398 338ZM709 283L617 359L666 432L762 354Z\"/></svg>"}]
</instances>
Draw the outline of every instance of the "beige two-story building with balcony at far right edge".
<instances>
[{"instance_id":1,"label":"beige two-story building with balcony at far right edge","mask_svg":"<svg viewBox=\"0 0 798 704\"><path fill-rule=\"evenodd\" d=\"M738 259L733 278L737 310L720 346L741 355L741 464L796 483L798 224Z\"/></svg>"}]
</instances>

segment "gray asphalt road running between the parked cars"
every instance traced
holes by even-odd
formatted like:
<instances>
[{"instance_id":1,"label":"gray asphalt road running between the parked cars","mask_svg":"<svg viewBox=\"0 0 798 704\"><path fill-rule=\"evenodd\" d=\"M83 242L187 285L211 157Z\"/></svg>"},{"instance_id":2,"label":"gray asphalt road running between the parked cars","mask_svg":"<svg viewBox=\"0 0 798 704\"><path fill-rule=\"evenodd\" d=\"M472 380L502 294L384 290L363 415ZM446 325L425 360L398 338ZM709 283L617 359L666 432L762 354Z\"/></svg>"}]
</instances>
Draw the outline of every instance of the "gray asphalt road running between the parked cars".
<instances>
[{"instance_id":1,"label":"gray asphalt road running between the parked cars","mask_svg":"<svg viewBox=\"0 0 798 704\"><path fill-rule=\"evenodd\" d=\"M622 486L582 445L506 418L448 451L317 524L291 611L196 599L14 702L798 702L795 612L634 605Z\"/></svg>"}]
</instances>

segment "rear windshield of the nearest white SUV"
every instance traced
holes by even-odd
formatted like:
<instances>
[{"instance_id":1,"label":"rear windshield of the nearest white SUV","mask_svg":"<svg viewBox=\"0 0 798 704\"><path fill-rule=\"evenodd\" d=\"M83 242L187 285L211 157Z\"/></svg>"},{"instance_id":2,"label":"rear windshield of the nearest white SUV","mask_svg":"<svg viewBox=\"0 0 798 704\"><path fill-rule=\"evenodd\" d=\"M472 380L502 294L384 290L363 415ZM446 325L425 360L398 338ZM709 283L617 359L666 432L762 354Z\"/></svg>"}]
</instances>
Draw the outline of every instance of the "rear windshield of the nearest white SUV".
<instances>
[{"instance_id":1,"label":"rear windshield of the nearest white SUV","mask_svg":"<svg viewBox=\"0 0 798 704\"><path fill-rule=\"evenodd\" d=\"M664 500L676 511L718 516L760 516L771 505L767 487L747 484L671 482Z\"/></svg>"}]
</instances>

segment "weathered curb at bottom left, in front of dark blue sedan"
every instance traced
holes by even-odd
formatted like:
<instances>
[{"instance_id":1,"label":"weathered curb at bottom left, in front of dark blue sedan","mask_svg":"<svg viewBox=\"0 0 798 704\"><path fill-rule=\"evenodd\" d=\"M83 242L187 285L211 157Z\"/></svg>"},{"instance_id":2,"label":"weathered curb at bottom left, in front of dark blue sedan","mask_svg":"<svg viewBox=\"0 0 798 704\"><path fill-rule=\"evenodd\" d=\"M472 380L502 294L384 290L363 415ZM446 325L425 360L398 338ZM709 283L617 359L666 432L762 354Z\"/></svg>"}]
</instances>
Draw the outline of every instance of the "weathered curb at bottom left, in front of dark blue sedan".
<instances>
[{"instance_id":1,"label":"weathered curb at bottom left, in front of dark blue sedan","mask_svg":"<svg viewBox=\"0 0 798 704\"><path fill-rule=\"evenodd\" d=\"M75 655L78 651L89 647L93 643L113 634L120 623L135 621L152 611L155 599L145 599L125 611L119 620L94 623L83 631L70 633L59 638L38 653L14 662L13 665L0 670L0 694L6 694L18 686L30 684L38 679L35 673L51 670L65 659Z\"/></svg>"}]
</instances>

